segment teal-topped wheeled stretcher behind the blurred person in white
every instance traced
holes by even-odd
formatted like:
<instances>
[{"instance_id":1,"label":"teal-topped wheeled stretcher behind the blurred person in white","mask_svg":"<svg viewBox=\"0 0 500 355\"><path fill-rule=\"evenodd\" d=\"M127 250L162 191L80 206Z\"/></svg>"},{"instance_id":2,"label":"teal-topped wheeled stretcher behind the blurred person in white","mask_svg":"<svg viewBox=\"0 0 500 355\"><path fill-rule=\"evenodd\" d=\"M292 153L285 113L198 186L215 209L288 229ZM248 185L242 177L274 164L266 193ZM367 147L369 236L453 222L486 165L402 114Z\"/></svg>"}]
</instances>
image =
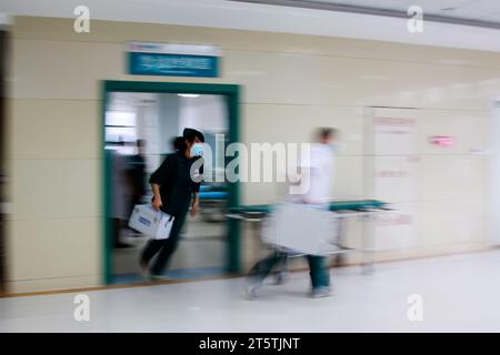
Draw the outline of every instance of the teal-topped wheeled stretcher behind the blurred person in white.
<instances>
[{"instance_id":1,"label":"teal-topped wheeled stretcher behind the blurred person in white","mask_svg":"<svg viewBox=\"0 0 500 355\"><path fill-rule=\"evenodd\" d=\"M260 235L262 221L268 217L273 211L273 205L247 205L229 209L227 216L244 223L250 223L254 233ZM362 254L362 266L364 273L370 273L373 270L373 254L374 254L374 237L372 222L380 214L393 212L389 204L377 200L342 200L332 201L329 204L329 211L336 213L338 219L337 236L331 250L324 252L326 255L341 255L351 253ZM362 243L361 247L352 248L344 246L346 241L346 220L358 219L362 222ZM277 245L267 245L271 248L277 248ZM302 256L302 253L290 253L289 257ZM287 267L284 265L284 267ZM282 272L278 272L277 277L282 277ZM278 280L279 282L279 280Z\"/></svg>"}]
</instances>

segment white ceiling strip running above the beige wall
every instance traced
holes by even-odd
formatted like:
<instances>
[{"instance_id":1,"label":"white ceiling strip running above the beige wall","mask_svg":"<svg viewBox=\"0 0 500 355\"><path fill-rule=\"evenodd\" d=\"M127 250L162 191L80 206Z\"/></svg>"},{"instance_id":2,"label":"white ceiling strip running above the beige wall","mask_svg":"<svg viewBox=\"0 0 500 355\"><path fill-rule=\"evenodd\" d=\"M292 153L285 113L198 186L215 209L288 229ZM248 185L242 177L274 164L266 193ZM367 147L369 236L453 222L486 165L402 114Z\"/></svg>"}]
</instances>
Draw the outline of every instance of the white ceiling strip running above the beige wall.
<instances>
[{"instance_id":1,"label":"white ceiling strip running above the beige wall","mask_svg":"<svg viewBox=\"0 0 500 355\"><path fill-rule=\"evenodd\" d=\"M421 3L424 11L436 8L438 2L447 7L459 3L462 10L457 11L483 17L494 17L494 9L500 7L500 0L353 0L349 4L392 3L407 8L410 2ZM472 2L473 10L466 8ZM408 20L403 18L228 0L0 0L0 13L73 18L74 8L82 3L89 7L91 19L98 20L331 36L500 52L498 29L426 21L423 33L410 33ZM480 9L490 12L481 14Z\"/></svg>"}]
</instances>

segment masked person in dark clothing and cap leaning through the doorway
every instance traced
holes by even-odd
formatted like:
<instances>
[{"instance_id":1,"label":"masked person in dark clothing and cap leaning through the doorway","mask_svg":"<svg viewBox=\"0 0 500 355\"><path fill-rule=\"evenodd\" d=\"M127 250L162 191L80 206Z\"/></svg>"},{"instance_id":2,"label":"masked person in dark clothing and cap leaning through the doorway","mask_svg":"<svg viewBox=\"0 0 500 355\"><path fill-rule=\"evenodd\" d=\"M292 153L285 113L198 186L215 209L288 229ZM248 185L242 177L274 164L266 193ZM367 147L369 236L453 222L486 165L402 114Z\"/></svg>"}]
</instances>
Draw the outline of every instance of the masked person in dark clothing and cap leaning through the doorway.
<instances>
[{"instance_id":1,"label":"masked person in dark clothing and cap leaning through the doorway","mask_svg":"<svg viewBox=\"0 0 500 355\"><path fill-rule=\"evenodd\" d=\"M176 139L177 152L168 154L149 180L153 191L152 206L174 217L169 237L150 240L142 252L140 267L143 275L151 280L164 278L161 274L179 244L180 232L189 207L191 207L191 216L197 213L200 181L193 176L191 168L201 158L193 156L191 149L194 144L202 142L204 138L201 132L184 129L182 140ZM202 173L201 169L200 171ZM149 268L152 257L157 254L154 263Z\"/></svg>"}]
</instances>

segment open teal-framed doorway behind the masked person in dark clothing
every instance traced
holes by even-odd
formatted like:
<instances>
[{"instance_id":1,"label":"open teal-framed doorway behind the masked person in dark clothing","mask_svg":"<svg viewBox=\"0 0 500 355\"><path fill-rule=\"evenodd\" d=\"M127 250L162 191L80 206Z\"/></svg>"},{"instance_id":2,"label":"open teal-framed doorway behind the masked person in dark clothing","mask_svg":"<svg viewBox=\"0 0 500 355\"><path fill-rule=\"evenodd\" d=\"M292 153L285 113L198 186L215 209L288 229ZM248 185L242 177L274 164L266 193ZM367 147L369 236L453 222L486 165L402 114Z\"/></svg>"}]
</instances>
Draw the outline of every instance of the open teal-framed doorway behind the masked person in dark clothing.
<instances>
[{"instance_id":1,"label":"open teal-framed doorway behind the masked person in dark clothing","mask_svg":"<svg viewBox=\"0 0 500 355\"><path fill-rule=\"evenodd\" d=\"M221 138L222 149L237 142L239 87L104 81L102 119L104 283L137 283L141 282L138 260L148 237L130 230L127 222L134 204L151 201L149 175L173 152L172 141L184 128L201 131L211 151ZM137 176L130 174L137 156L142 156L143 178L139 181L144 187L139 200L120 183L122 176L129 176L128 181ZM238 229L226 219L227 209L239 204L238 184L226 182L224 164L212 159L204 166L200 213L184 224L166 273L169 278L204 278L239 271ZM133 181L137 179L132 185Z\"/></svg>"}]
</instances>

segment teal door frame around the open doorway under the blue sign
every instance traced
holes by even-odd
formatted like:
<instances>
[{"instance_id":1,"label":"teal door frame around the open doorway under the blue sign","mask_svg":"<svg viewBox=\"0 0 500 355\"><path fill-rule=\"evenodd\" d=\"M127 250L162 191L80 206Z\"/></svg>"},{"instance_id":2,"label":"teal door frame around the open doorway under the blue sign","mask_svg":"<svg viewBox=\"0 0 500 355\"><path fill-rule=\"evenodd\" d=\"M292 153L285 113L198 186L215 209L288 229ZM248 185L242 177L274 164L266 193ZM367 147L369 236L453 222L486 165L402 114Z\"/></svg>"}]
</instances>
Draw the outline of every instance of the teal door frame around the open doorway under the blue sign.
<instances>
[{"instance_id":1,"label":"teal door frame around the open doorway under the blue sign","mask_svg":"<svg viewBox=\"0 0 500 355\"><path fill-rule=\"evenodd\" d=\"M239 142L240 130L240 87L234 84L186 83L186 82L150 82L150 81L118 81L101 82L101 152L102 152L102 241L103 241L103 283L112 283L112 235L108 223L111 215L111 192L109 184L111 166L106 154L106 109L110 92L157 92L157 93L197 93L223 95L227 100L229 116L229 142ZM237 207L240 203L239 183L229 185L229 207ZM234 220L228 220L227 271L231 274L240 272L240 231Z\"/></svg>"}]
</instances>

